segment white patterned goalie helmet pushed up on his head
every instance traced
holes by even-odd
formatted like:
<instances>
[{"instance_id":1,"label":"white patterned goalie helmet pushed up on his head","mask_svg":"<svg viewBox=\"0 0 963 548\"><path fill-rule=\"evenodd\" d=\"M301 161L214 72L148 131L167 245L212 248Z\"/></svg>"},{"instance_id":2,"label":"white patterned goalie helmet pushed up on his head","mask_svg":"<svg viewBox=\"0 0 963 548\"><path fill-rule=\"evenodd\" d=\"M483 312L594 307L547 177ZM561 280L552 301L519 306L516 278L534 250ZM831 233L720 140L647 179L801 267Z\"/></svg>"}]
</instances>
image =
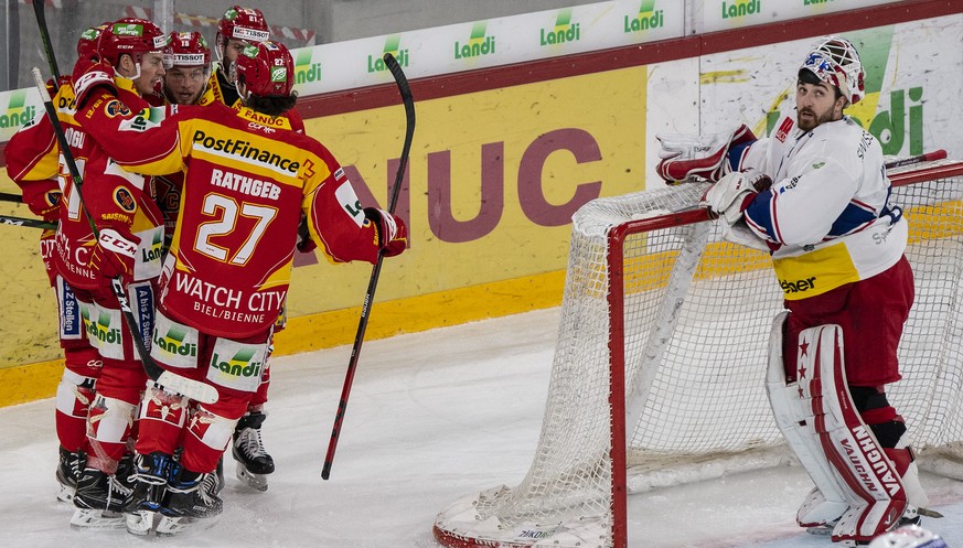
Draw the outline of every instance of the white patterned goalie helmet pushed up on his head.
<instances>
[{"instance_id":1,"label":"white patterned goalie helmet pushed up on his head","mask_svg":"<svg viewBox=\"0 0 963 548\"><path fill-rule=\"evenodd\" d=\"M859 103L866 95L863 63L856 47L846 39L828 36L816 42L800 66L800 73L803 71L836 86L850 105Z\"/></svg>"}]
</instances>

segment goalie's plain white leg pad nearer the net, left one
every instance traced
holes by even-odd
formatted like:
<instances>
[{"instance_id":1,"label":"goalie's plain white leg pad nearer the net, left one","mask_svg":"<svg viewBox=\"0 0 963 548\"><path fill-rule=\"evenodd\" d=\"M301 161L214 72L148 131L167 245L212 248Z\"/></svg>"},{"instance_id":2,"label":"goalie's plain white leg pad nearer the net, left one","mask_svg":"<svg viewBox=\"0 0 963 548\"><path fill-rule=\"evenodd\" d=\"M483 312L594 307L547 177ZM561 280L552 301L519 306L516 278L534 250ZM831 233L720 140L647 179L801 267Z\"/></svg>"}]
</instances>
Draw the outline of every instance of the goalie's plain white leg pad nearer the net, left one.
<instances>
[{"instance_id":1,"label":"goalie's plain white leg pad nearer the net, left one","mask_svg":"<svg viewBox=\"0 0 963 548\"><path fill-rule=\"evenodd\" d=\"M788 316L789 312L784 311L772 323L766 389L779 430L815 484L800 506L796 522L801 527L818 527L835 524L849 503L812 428L812 413L800 397L799 383L788 383L785 378L782 337Z\"/></svg>"}]
</instances>

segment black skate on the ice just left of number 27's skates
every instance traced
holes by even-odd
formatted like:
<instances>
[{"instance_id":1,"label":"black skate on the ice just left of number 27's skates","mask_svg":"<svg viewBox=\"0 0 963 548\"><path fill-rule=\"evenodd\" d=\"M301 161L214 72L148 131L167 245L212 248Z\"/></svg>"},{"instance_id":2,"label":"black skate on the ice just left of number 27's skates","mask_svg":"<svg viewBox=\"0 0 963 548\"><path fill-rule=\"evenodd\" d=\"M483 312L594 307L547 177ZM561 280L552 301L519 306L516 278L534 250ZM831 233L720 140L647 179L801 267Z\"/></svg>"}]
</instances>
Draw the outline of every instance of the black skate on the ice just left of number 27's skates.
<instances>
[{"instance_id":1,"label":"black skate on the ice just left of number 27's skates","mask_svg":"<svg viewBox=\"0 0 963 548\"><path fill-rule=\"evenodd\" d=\"M116 474L97 469L84 469L74 494L74 516L71 526L82 529L122 529L124 503L130 490L117 481Z\"/></svg>"}]
</instances>

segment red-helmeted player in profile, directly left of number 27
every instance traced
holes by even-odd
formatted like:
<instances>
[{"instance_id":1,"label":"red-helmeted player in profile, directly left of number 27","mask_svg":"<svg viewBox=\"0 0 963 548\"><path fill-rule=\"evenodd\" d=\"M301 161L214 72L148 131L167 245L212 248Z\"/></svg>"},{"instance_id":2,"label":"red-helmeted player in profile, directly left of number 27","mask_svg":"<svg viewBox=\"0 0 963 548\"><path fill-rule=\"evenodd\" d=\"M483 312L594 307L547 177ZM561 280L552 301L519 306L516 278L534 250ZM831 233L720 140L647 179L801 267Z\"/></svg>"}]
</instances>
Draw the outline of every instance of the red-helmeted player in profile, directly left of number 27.
<instances>
[{"instance_id":1,"label":"red-helmeted player in profile, directly left of number 27","mask_svg":"<svg viewBox=\"0 0 963 548\"><path fill-rule=\"evenodd\" d=\"M167 35L142 19L121 19L101 31L97 55L116 71L111 82L119 100L111 110L114 116L150 106L143 97L160 89L167 43ZM74 78L77 98L97 84L94 75L84 73L88 64L82 60L75 69L83 74ZM77 509L71 523L77 527L122 528L122 504L130 490L124 485L129 474L118 471L118 466L121 460L129 461L128 441L133 434L136 410L147 380L133 348L131 329L143 333L138 336L149 336L153 283L161 270L163 221L153 200L150 178L120 170L97 138L77 131L73 139L89 147L89 155L84 162L83 189L65 193L72 200L68 215L89 214L96 225L96 238L87 225L83 235L71 235L63 241L58 239L58 244L65 258L78 257L71 249L84 251L85 262L77 268L83 269L85 284L77 298L87 339L97 348L104 367L87 419L90 452L77 482L74 496ZM115 278L120 278L127 288L140 325L125 324L111 289Z\"/></svg>"}]
</instances>

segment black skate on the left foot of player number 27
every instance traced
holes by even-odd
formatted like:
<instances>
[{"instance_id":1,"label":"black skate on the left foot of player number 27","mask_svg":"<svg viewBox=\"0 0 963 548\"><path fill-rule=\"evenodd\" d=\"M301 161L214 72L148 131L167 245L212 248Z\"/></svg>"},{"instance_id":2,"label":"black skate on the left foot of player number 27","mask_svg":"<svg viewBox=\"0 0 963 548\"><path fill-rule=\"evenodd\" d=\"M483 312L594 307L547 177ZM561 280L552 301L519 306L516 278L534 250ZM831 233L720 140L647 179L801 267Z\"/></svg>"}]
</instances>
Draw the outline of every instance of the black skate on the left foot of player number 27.
<instances>
[{"instance_id":1,"label":"black skate on the left foot of player number 27","mask_svg":"<svg viewBox=\"0 0 963 548\"><path fill-rule=\"evenodd\" d=\"M154 451L138 454L133 460L133 488L124 505L127 531L147 535L153 527L153 517L160 511L167 492L168 475L174 465L171 455Z\"/></svg>"}]
</instances>

